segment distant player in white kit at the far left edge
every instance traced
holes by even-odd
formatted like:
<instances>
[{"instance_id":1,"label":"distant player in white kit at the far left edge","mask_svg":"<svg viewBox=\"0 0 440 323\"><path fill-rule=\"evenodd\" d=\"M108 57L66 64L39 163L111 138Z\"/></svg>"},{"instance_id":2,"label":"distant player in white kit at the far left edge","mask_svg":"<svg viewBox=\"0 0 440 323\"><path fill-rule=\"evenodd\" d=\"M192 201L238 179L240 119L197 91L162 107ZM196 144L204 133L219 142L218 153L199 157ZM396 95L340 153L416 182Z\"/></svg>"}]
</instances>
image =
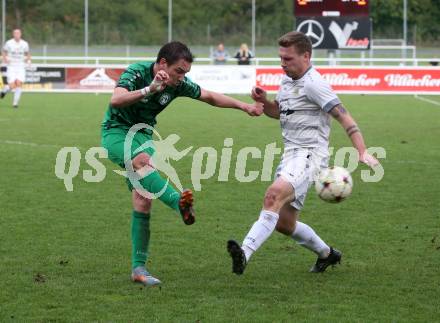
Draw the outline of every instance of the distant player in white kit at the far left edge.
<instances>
[{"instance_id":1,"label":"distant player in white kit at the far left edge","mask_svg":"<svg viewBox=\"0 0 440 323\"><path fill-rule=\"evenodd\" d=\"M7 65L6 76L8 84L0 92L0 98L4 98L6 93L14 90L13 107L18 108L21 97L21 86L26 77L25 64L31 63L29 44L21 39L21 30L14 29L13 38L9 39L3 46L3 63Z\"/></svg>"}]
</instances>

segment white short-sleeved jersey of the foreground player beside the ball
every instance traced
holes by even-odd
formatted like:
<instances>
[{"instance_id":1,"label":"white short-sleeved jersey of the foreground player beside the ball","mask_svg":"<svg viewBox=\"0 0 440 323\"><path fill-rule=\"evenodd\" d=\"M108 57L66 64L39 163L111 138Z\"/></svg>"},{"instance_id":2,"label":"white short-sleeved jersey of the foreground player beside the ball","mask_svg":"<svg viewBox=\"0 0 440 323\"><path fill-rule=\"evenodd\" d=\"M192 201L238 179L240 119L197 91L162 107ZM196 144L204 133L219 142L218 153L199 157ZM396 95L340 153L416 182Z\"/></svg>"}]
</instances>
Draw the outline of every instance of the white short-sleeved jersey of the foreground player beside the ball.
<instances>
[{"instance_id":1,"label":"white short-sleeved jersey of the foreground player beside the ball","mask_svg":"<svg viewBox=\"0 0 440 323\"><path fill-rule=\"evenodd\" d=\"M284 75L276 101L286 150L318 148L328 151L328 112L341 101L314 67L298 80Z\"/></svg>"}]
</instances>

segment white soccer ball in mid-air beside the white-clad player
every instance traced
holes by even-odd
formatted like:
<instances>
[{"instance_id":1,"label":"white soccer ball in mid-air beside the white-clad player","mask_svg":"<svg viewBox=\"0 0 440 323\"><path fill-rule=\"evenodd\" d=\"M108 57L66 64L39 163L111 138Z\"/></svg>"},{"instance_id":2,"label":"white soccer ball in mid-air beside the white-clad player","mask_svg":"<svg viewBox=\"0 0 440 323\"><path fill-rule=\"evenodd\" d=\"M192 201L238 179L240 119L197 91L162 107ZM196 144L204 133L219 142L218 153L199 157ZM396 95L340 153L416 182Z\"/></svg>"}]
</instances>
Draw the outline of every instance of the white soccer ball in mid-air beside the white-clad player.
<instances>
[{"instance_id":1,"label":"white soccer ball in mid-air beside the white-clad player","mask_svg":"<svg viewBox=\"0 0 440 323\"><path fill-rule=\"evenodd\" d=\"M350 173L342 167L333 166L321 170L315 180L318 196L331 203L339 203L350 196L353 189L353 179Z\"/></svg>"}]
</instances>

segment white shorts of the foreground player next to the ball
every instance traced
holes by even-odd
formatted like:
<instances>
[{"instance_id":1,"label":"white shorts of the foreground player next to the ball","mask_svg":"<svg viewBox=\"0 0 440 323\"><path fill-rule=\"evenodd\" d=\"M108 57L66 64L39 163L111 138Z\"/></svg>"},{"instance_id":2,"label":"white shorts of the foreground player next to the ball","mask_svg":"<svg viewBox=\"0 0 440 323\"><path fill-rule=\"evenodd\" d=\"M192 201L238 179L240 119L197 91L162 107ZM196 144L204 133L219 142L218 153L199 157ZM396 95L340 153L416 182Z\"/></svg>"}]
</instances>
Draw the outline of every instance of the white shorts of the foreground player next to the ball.
<instances>
[{"instance_id":1,"label":"white shorts of the foreground player next to the ball","mask_svg":"<svg viewBox=\"0 0 440 323\"><path fill-rule=\"evenodd\" d=\"M293 148L284 151L276 177L281 176L295 190L295 200L290 203L295 209L303 208L307 191L315 176L327 167L328 154L318 152L315 148Z\"/></svg>"}]
</instances>

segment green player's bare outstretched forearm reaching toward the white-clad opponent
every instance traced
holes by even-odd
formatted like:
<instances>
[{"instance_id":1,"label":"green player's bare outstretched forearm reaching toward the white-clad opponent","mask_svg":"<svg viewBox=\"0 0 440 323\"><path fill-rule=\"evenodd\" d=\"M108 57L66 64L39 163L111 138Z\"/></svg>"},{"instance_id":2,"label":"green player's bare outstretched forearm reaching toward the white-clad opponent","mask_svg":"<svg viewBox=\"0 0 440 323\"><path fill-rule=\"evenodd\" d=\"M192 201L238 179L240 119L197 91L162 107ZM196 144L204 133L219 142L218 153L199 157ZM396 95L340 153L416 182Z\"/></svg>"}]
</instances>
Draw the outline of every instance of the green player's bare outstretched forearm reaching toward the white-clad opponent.
<instances>
[{"instance_id":1,"label":"green player's bare outstretched forearm reaching toward the white-clad opponent","mask_svg":"<svg viewBox=\"0 0 440 323\"><path fill-rule=\"evenodd\" d=\"M249 104L231 98L230 96L204 89L201 89L199 100L218 108L239 109L246 112L250 116L260 116L263 114L263 107L261 103Z\"/></svg>"}]
</instances>

